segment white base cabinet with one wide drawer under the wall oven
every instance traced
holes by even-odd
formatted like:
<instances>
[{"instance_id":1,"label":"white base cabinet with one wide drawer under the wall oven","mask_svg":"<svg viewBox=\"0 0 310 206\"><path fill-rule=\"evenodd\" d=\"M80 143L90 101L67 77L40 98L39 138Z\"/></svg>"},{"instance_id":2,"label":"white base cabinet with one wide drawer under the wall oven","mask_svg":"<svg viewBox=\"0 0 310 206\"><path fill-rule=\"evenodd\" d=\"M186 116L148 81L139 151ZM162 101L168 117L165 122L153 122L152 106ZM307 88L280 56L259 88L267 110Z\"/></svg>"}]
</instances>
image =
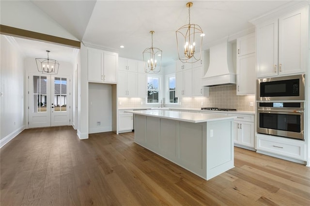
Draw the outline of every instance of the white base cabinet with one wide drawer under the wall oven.
<instances>
[{"instance_id":1,"label":"white base cabinet with one wide drawer under the wall oven","mask_svg":"<svg viewBox=\"0 0 310 206\"><path fill-rule=\"evenodd\" d=\"M306 144L302 140L289 139L265 134L256 134L257 152L271 153L277 157L306 161ZM283 158L285 159L285 158Z\"/></svg>"}]
</instances>

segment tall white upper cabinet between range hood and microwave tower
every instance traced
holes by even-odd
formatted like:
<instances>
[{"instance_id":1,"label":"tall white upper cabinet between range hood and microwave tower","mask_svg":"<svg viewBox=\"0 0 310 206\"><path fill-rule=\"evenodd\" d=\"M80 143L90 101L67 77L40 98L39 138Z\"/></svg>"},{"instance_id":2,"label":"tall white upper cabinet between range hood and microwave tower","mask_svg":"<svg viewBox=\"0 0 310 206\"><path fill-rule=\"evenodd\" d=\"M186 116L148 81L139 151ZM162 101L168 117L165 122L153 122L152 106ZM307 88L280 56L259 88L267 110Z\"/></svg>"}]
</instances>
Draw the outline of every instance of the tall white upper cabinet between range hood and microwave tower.
<instances>
[{"instance_id":1,"label":"tall white upper cabinet between range hood and microwave tower","mask_svg":"<svg viewBox=\"0 0 310 206\"><path fill-rule=\"evenodd\" d=\"M255 33L237 39L237 95L255 94Z\"/></svg>"}]
</instances>

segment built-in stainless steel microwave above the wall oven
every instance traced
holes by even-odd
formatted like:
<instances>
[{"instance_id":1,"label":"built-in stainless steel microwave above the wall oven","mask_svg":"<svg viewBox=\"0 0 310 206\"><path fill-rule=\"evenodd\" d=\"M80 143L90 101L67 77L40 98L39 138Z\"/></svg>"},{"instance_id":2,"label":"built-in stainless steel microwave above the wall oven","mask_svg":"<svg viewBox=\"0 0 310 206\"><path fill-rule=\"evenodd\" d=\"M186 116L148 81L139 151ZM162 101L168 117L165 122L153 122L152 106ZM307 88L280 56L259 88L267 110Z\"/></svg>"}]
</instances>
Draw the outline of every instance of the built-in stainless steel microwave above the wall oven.
<instances>
[{"instance_id":1,"label":"built-in stainless steel microwave above the wall oven","mask_svg":"<svg viewBox=\"0 0 310 206\"><path fill-rule=\"evenodd\" d=\"M257 80L257 101L304 101L305 74Z\"/></svg>"}]
</instances>

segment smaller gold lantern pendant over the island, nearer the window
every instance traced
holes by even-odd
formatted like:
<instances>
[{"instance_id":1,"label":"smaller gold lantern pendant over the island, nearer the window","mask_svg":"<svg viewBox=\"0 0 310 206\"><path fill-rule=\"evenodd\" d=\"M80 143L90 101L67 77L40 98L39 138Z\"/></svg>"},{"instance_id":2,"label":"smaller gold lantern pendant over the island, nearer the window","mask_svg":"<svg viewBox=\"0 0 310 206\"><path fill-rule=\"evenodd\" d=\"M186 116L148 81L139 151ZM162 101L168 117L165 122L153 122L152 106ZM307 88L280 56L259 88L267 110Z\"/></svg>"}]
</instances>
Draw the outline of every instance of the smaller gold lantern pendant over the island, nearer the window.
<instances>
[{"instance_id":1,"label":"smaller gold lantern pendant over the island, nearer the window","mask_svg":"<svg viewBox=\"0 0 310 206\"><path fill-rule=\"evenodd\" d=\"M143 51L143 62L145 73L154 74L160 72L162 50L153 47L153 34L155 31L150 31L152 34L152 45Z\"/></svg>"}]
</instances>

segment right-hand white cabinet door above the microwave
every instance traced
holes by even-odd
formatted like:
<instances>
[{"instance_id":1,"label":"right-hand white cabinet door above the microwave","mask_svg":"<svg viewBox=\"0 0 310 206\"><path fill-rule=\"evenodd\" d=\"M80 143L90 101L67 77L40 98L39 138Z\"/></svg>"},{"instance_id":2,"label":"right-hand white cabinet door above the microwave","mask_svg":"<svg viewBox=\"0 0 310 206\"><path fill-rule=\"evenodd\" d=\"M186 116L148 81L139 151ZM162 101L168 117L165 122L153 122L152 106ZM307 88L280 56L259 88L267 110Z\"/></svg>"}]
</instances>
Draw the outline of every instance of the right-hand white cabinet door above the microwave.
<instances>
[{"instance_id":1,"label":"right-hand white cabinet door above the microwave","mask_svg":"<svg viewBox=\"0 0 310 206\"><path fill-rule=\"evenodd\" d=\"M279 74L305 72L307 24L304 10L279 18Z\"/></svg>"}]
</instances>

